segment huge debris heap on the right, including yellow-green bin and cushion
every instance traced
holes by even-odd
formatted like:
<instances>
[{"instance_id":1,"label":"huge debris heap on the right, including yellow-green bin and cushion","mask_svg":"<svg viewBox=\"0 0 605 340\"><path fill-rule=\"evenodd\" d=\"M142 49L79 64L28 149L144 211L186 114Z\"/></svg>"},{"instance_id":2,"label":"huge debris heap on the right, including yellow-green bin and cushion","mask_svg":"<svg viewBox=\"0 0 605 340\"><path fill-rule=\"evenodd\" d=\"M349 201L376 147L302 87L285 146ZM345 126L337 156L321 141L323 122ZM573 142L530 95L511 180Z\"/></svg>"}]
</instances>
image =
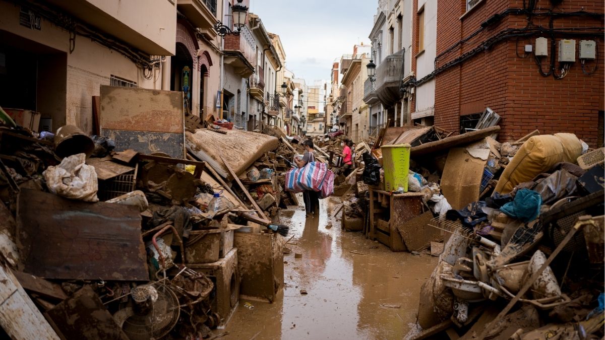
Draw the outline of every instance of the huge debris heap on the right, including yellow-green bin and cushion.
<instances>
[{"instance_id":1,"label":"huge debris heap on the right, including yellow-green bin and cushion","mask_svg":"<svg viewBox=\"0 0 605 340\"><path fill-rule=\"evenodd\" d=\"M364 153L368 189L344 204L367 199L367 237L439 257L407 338L601 339L604 149L538 131L499 143L499 126L417 143L422 129Z\"/></svg>"}]
</instances>

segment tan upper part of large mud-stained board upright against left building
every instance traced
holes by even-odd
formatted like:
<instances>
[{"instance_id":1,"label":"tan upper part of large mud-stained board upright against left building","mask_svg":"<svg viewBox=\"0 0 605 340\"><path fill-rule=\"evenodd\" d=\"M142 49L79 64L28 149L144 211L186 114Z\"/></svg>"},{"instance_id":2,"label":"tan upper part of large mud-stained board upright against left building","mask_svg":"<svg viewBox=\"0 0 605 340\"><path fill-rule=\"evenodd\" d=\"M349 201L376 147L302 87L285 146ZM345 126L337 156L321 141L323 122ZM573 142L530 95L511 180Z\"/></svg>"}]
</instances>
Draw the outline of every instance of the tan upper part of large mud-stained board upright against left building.
<instances>
[{"instance_id":1,"label":"tan upper part of large mud-stained board upright against left building","mask_svg":"<svg viewBox=\"0 0 605 340\"><path fill-rule=\"evenodd\" d=\"M183 93L102 86L101 128L183 133Z\"/></svg>"}]
</instances>

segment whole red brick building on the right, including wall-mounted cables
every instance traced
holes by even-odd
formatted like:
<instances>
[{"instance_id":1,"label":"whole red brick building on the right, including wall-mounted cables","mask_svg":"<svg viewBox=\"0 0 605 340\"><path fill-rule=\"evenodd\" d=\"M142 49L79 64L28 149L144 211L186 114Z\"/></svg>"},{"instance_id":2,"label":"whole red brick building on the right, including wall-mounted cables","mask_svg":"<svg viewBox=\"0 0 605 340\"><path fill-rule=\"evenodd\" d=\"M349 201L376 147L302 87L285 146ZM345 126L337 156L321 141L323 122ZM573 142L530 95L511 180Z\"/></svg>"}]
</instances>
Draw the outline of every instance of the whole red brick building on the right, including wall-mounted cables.
<instances>
[{"instance_id":1,"label":"whole red brick building on the right, including wall-mounted cables","mask_svg":"<svg viewBox=\"0 0 605 340\"><path fill-rule=\"evenodd\" d=\"M417 0L413 8L416 71ZM604 13L603 0L440 0L436 69L415 80L436 81L434 124L449 131L474 127L473 119L490 107L502 116L501 141L538 129L574 132L602 146ZM548 56L535 56L536 38L546 38ZM561 39L575 40L575 62L558 60ZM596 41L595 59L580 59L580 41Z\"/></svg>"}]
</instances>

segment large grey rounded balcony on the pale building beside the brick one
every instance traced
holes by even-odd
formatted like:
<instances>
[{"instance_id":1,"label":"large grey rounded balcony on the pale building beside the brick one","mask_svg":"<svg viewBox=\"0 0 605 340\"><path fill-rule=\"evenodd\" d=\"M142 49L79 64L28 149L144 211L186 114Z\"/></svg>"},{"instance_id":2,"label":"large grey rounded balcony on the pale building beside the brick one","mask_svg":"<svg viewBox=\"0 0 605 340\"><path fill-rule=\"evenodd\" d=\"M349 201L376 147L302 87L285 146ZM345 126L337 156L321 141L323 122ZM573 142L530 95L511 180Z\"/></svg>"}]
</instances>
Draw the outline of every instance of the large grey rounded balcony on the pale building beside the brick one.
<instances>
[{"instance_id":1,"label":"large grey rounded balcony on the pale building beside the brick one","mask_svg":"<svg viewBox=\"0 0 605 340\"><path fill-rule=\"evenodd\" d=\"M376 68L376 95L385 107L391 107L401 98L399 83L404 77L403 50L386 57Z\"/></svg>"}]
</instances>

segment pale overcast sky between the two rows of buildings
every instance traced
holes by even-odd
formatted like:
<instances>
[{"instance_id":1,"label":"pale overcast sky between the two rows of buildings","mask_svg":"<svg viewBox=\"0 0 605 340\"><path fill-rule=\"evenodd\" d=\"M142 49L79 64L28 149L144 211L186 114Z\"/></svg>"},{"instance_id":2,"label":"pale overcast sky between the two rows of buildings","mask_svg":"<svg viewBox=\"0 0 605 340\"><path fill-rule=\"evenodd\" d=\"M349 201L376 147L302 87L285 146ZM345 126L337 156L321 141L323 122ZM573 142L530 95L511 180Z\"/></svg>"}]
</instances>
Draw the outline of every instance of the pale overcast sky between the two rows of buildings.
<instances>
[{"instance_id":1,"label":"pale overcast sky between the two rows of buildings","mask_svg":"<svg viewBox=\"0 0 605 340\"><path fill-rule=\"evenodd\" d=\"M250 0L250 12L280 36L288 70L307 85L330 80L332 63L353 45L370 44L376 8L376 0Z\"/></svg>"}]
</instances>

